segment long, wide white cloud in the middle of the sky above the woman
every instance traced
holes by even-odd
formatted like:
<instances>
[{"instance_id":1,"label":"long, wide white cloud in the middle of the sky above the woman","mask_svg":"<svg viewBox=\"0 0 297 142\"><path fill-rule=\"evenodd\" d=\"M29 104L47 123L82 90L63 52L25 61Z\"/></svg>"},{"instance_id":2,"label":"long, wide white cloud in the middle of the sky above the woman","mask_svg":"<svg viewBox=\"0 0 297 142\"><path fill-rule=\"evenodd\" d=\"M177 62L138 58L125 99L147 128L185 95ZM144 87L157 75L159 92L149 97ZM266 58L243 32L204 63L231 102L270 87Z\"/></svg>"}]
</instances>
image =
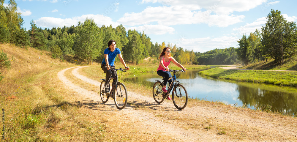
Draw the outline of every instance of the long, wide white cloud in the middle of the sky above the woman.
<instances>
[{"instance_id":1,"label":"long, wide white cloud in the middle of the sky above the woman","mask_svg":"<svg viewBox=\"0 0 297 142\"><path fill-rule=\"evenodd\" d=\"M124 25L135 26L157 22L158 25L206 23L209 26L226 27L241 22L244 15L211 15L208 12L191 11L182 6L147 7L139 13L125 13L117 20Z\"/></svg>"}]
</instances>

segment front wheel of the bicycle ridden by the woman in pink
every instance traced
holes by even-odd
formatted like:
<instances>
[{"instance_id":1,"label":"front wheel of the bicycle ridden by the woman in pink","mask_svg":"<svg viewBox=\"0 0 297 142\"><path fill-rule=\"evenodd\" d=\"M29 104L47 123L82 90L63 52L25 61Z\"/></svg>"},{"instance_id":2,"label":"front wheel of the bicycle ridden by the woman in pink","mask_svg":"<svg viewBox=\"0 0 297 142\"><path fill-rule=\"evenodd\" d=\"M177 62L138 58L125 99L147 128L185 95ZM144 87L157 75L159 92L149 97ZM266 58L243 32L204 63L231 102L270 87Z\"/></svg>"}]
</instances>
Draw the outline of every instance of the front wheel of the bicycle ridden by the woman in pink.
<instances>
[{"instance_id":1,"label":"front wheel of the bicycle ridden by the woman in pink","mask_svg":"<svg viewBox=\"0 0 297 142\"><path fill-rule=\"evenodd\" d=\"M187 106L188 92L183 85L177 84L173 88L172 100L173 100L174 106L179 110L182 110Z\"/></svg>"}]
</instances>

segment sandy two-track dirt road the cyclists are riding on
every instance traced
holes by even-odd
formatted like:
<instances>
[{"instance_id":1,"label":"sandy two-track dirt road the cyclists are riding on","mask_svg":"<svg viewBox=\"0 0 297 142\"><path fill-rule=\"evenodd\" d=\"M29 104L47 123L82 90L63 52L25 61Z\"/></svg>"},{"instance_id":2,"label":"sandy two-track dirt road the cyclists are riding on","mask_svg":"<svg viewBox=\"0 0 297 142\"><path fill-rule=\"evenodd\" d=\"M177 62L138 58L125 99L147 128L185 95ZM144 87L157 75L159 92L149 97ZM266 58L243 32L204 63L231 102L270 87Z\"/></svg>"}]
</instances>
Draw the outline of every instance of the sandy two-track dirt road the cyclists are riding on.
<instances>
[{"instance_id":1,"label":"sandy two-track dirt road the cyclists are riding on","mask_svg":"<svg viewBox=\"0 0 297 142\"><path fill-rule=\"evenodd\" d=\"M189 105L184 110L177 110L172 101L165 100L162 104L154 102L153 97L131 92L128 88L129 104L118 110L110 98L102 103L99 94L73 82L79 79L93 86L100 86L99 80L93 80L79 74L79 70L89 66L70 67L61 70L58 78L63 87L74 91L71 100L80 102L82 107L94 113L110 114L110 120L121 116L124 125L138 131L138 135L159 135L169 137L173 141L297 141L296 119L275 117L260 111L234 108L226 105L197 104ZM72 78L67 78L69 72ZM69 76L69 74L67 76ZM223 131L225 134L219 135ZM171 141L170 140L170 141ZM154 141L167 141L158 139ZM169 140L168 140L169 141Z\"/></svg>"}]
</instances>

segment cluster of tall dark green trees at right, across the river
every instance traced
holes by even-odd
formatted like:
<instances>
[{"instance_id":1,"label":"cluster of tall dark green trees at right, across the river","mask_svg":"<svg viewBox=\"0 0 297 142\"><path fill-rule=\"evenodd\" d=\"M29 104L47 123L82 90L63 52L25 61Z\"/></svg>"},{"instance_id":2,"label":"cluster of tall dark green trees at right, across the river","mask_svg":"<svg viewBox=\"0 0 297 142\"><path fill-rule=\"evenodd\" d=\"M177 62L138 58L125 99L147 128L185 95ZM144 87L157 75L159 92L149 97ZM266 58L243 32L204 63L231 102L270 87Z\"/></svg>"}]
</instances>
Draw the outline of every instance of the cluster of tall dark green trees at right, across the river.
<instances>
[{"instance_id":1,"label":"cluster of tall dark green trees at right, across the river","mask_svg":"<svg viewBox=\"0 0 297 142\"><path fill-rule=\"evenodd\" d=\"M284 64L285 58L296 56L296 22L288 22L278 10L271 10L266 19L265 27L262 27L261 31L256 29L248 37L243 35L237 41L238 59L246 65L267 59Z\"/></svg>"}]
</instances>

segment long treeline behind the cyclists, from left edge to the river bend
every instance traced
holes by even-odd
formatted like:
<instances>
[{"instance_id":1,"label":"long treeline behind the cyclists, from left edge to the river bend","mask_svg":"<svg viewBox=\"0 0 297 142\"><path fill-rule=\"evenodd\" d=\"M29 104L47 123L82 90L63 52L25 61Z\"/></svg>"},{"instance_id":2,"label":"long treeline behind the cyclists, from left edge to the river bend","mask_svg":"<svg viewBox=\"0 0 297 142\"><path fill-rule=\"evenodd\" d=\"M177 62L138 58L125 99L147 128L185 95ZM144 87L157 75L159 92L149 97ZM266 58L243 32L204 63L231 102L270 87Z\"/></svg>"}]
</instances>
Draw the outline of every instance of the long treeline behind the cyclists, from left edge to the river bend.
<instances>
[{"instance_id":1,"label":"long treeline behind the cyclists, from left edge to the river bend","mask_svg":"<svg viewBox=\"0 0 297 142\"><path fill-rule=\"evenodd\" d=\"M116 47L122 52L126 62L139 64L149 56L157 58L165 47L162 44L153 44L150 37L136 30L128 30L123 25L115 28L110 26L98 27L93 19L78 22L77 26L52 29L42 29L36 26L32 20L31 28L27 31L23 28L23 19L17 12L17 4L9 1L8 7L4 7L4 0L0 1L0 42L10 42L20 47L33 47L40 50L51 51L53 58L67 59L69 61L83 61L90 63L95 60L101 62L103 51L108 48L108 41L115 40ZM172 54L181 64L194 64L195 53L183 48L172 47ZM70 58L69 58L70 57Z\"/></svg>"}]
</instances>

